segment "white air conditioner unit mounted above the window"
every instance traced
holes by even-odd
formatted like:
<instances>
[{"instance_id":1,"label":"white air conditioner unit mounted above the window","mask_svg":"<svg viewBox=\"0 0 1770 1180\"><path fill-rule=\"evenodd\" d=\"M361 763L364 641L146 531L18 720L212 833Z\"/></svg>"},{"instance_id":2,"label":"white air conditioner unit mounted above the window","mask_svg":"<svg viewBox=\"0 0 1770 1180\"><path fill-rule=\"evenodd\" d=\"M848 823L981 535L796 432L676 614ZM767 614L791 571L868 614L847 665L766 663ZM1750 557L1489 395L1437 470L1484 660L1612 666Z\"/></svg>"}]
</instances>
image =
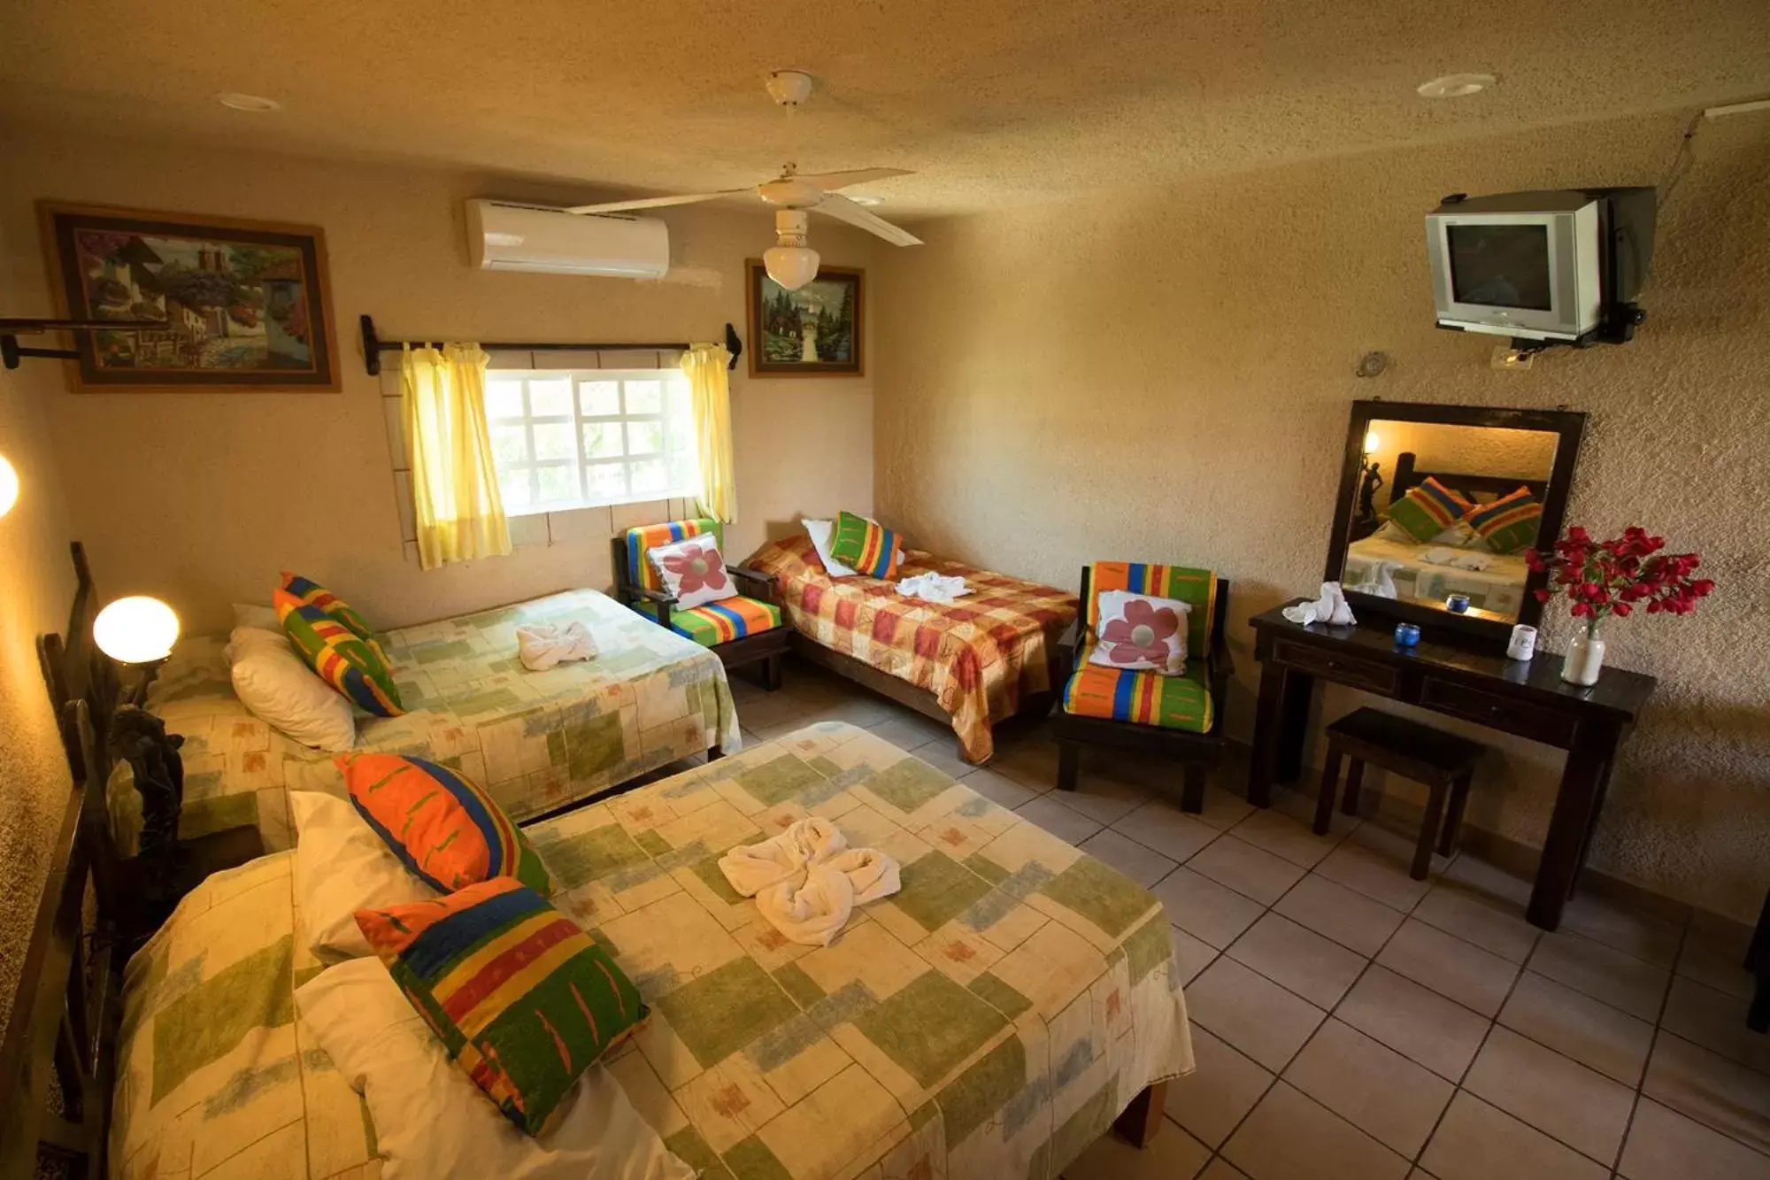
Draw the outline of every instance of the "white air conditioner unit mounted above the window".
<instances>
[{"instance_id":1,"label":"white air conditioner unit mounted above the window","mask_svg":"<svg viewBox=\"0 0 1770 1180\"><path fill-rule=\"evenodd\" d=\"M669 227L625 213L469 200L467 246L487 271L662 278L669 269Z\"/></svg>"}]
</instances>

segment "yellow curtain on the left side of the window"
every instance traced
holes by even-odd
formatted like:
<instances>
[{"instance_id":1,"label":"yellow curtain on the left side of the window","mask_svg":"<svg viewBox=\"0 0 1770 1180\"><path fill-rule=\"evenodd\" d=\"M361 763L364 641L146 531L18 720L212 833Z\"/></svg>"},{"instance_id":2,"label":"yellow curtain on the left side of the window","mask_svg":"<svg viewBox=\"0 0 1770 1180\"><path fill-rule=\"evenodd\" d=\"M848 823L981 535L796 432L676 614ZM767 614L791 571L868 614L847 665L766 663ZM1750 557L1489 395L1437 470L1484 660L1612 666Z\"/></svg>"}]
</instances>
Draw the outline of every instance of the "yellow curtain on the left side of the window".
<instances>
[{"instance_id":1,"label":"yellow curtain on the left side of the window","mask_svg":"<svg viewBox=\"0 0 1770 1180\"><path fill-rule=\"evenodd\" d=\"M487 360L478 344L404 349L400 356L423 569L510 553L485 425Z\"/></svg>"}]
</instances>

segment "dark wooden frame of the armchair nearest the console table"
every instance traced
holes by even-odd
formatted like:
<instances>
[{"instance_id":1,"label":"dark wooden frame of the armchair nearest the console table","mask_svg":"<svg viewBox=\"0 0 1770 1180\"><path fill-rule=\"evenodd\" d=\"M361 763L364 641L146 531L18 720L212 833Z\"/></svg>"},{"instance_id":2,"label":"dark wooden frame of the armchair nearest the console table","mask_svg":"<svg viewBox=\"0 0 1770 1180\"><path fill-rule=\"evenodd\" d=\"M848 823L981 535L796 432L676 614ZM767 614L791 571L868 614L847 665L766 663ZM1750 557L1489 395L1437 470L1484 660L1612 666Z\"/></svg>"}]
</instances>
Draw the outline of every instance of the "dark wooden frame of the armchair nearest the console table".
<instances>
[{"instance_id":1,"label":"dark wooden frame of the armchair nearest the console table","mask_svg":"<svg viewBox=\"0 0 1770 1180\"><path fill-rule=\"evenodd\" d=\"M1081 567L1081 613L1074 629L1066 636L1069 661L1073 668L1081 668L1087 659L1087 618L1089 618L1089 572ZM1211 620L1211 645L1205 650L1205 675L1211 691L1211 728L1204 734L1189 730L1165 730L1156 725L1138 725L1135 721L1108 721L1104 718L1078 718L1064 712L1062 695L1051 714L1051 737L1057 739L1057 788L1074 790L1076 774L1081 765L1083 746L1104 746L1131 753L1152 755L1184 765L1181 788L1181 810L1202 811L1205 804L1205 774L1223 758L1227 746L1225 723L1228 721L1228 682L1235 675L1235 661L1228 654L1223 640L1225 620L1228 618L1228 579L1218 578L1216 613Z\"/></svg>"}]
</instances>

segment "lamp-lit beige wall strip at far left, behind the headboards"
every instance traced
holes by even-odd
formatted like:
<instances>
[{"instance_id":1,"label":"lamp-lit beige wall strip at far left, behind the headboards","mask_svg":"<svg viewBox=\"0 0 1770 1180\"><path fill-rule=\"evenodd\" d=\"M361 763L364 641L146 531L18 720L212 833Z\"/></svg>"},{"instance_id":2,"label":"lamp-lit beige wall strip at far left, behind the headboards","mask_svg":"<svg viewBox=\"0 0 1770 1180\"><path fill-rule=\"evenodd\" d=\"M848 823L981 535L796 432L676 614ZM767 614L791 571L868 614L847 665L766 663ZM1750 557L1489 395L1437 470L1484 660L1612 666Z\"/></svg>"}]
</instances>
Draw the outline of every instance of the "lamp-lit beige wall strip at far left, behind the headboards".
<instances>
[{"instance_id":1,"label":"lamp-lit beige wall strip at far left, behind the headboards","mask_svg":"<svg viewBox=\"0 0 1770 1180\"><path fill-rule=\"evenodd\" d=\"M0 230L0 246L5 243ZM18 307L0 283L0 308ZM37 634L67 625L74 594L42 390L27 369L0 370L0 455L18 471L18 503L0 516L0 1029L30 941L50 847L69 801L67 760L37 670Z\"/></svg>"}]
</instances>

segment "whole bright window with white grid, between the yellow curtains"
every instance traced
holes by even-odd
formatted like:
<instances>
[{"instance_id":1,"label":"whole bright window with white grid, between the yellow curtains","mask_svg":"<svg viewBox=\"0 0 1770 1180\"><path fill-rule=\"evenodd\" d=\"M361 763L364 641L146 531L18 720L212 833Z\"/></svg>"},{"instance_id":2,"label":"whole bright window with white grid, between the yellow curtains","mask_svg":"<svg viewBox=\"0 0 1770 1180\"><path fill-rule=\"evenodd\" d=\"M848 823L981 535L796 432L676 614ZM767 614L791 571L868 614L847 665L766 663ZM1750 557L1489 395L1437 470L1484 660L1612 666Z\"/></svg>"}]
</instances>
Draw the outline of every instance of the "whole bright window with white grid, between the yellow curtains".
<instances>
[{"instance_id":1,"label":"whole bright window with white grid, between the yellow curtains","mask_svg":"<svg viewBox=\"0 0 1770 1180\"><path fill-rule=\"evenodd\" d=\"M673 369L492 370L485 413L506 516L701 491L689 379Z\"/></svg>"}]
</instances>

